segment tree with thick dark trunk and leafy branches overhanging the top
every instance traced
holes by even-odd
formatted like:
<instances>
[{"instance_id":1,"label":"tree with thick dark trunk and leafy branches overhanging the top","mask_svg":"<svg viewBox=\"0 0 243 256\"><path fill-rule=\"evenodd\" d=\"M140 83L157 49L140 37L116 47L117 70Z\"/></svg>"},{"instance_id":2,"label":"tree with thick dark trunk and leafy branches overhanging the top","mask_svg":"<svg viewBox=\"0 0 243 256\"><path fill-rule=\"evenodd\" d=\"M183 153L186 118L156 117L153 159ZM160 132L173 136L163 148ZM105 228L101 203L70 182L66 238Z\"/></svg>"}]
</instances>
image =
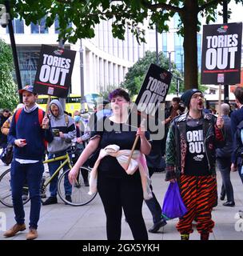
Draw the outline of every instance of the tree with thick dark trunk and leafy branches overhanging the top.
<instances>
[{"instance_id":1,"label":"tree with thick dark trunk and leafy branches overhanging the top","mask_svg":"<svg viewBox=\"0 0 243 256\"><path fill-rule=\"evenodd\" d=\"M185 89L197 87L197 31L201 22L199 14L206 22L215 22L217 6L225 0L10 0L12 14L25 18L26 24L37 23L46 17L46 26L59 19L59 38L77 42L78 38L93 38L94 26L101 20L112 21L115 38L124 39L128 27L136 35L137 41L144 42L141 29L145 20L149 27L157 25L159 32L169 30L166 22L178 14L180 23L177 33L184 37ZM230 0L227 0L230 2ZM234 0L243 5L243 0ZM0 0L0 3L4 0ZM229 11L230 13L230 11ZM47 15L46 15L47 14ZM74 26L69 26L70 22Z\"/></svg>"}]
</instances>

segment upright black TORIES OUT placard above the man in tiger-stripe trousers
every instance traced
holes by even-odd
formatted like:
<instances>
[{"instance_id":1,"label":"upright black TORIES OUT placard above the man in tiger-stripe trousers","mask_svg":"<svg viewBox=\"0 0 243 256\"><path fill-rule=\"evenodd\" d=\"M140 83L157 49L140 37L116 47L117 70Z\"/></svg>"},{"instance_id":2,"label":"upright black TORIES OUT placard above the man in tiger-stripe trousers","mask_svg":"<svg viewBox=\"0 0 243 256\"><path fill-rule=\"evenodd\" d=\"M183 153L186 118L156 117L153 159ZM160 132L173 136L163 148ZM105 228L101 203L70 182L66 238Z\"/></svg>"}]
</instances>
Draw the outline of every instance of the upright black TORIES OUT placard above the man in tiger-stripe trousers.
<instances>
[{"instance_id":1,"label":"upright black TORIES OUT placard above the man in tiger-stripe trousers","mask_svg":"<svg viewBox=\"0 0 243 256\"><path fill-rule=\"evenodd\" d=\"M203 26L201 83L241 82L242 22Z\"/></svg>"}]
</instances>

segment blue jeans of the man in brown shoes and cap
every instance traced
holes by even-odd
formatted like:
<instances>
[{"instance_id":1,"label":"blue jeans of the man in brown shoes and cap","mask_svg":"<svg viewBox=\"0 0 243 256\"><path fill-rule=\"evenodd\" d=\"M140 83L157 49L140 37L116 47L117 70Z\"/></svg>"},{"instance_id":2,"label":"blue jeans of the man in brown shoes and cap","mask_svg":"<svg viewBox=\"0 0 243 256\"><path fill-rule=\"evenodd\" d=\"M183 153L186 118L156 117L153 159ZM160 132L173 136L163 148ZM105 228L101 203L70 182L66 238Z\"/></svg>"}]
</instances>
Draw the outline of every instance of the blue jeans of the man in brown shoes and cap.
<instances>
[{"instance_id":1,"label":"blue jeans of the man in brown shoes and cap","mask_svg":"<svg viewBox=\"0 0 243 256\"><path fill-rule=\"evenodd\" d=\"M30 227L37 229L41 211L40 188L44 166L41 161L36 163L20 164L14 161L11 164L11 190L14 204L15 220L18 224L25 222L25 211L22 203L22 188L27 181L30 191Z\"/></svg>"}]
</instances>

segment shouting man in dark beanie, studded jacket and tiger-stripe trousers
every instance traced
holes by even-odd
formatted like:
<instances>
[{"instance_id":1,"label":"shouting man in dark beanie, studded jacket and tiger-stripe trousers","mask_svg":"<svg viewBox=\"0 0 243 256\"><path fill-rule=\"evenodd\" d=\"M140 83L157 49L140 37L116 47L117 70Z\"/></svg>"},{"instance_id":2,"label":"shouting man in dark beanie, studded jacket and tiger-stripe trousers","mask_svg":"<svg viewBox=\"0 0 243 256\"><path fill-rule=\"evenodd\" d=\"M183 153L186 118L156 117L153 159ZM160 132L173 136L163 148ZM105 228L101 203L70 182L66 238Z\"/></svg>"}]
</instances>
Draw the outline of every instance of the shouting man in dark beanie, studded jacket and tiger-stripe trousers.
<instances>
[{"instance_id":1,"label":"shouting man in dark beanie, studded jacket and tiger-stripe trousers","mask_svg":"<svg viewBox=\"0 0 243 256\"><path fill-rule=\"evenodd\" d=\"M177 180L188 210L177 223L181 239L189 239L195 219L201 240L208 240L214 226L211 211L217 188L215 149L224 146L224 121L202 111L204 97L200 90L186 90L181 100L189 110L174 118L169 128L165 180Z\"/></svg>"}]
</instances>

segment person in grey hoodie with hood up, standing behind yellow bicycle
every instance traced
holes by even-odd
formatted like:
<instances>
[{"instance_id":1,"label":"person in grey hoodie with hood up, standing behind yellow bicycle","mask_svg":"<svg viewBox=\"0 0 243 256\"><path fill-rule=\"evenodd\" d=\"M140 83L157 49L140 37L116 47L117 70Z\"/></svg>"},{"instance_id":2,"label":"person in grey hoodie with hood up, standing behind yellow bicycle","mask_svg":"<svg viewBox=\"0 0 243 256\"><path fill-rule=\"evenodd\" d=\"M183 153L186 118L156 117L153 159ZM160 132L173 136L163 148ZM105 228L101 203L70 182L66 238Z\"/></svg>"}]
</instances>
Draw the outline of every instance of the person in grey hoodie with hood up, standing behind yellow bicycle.
<instances>
[{"instance_id":1,"label":"person in grey hoodie with hood up, standing behind yellow bicycle","mask_svg":"<svg viewBox=\"0 0 243 256\"><path fill-rule=\"evenodd\" d=\"M66 150L72 145L72 139L76 138L74 119L69 115L64 114L62 105L58 99L54 99L50 102L50 126L54 134L54 140L48 143L47 146L48 159L65 155ZM61 161L50 162L48 164L50 175L54 174L60 164ZM68 166L65 166L64 170L67 170L67 168ZM65 177L64 188L66 200L72 202L72 186L67 175ZM58 176L50 182L50 198L47 198L47 200L42 203L43 206L58 202L57 191Z\"/></svg>"}]
</instances>

